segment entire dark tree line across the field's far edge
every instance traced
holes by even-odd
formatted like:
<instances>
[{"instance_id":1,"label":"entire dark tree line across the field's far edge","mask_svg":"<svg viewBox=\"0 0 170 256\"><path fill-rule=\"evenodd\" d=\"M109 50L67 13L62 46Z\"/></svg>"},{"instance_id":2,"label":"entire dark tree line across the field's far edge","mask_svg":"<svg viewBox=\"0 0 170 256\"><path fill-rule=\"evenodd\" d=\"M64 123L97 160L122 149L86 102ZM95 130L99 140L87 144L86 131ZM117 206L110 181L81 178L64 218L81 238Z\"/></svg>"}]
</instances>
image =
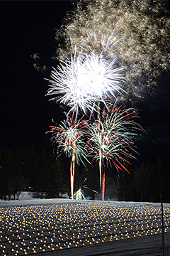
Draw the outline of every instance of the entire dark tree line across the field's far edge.
<instances>
[{"instance_id":1,"label":"entire dark tree line across the field's far edge","mask_svg":"<svg viewBox=\"0 0 170 256\"><path fill-rule=\"evenodd\" d=\"M18 199L21 191L37 192L40 198L59 198L65 193L70 196L69 161L64 154L57 157L45 148L40 153L21 146L16 151L0 149L0 199ZM147 161L127 168L130 174L106 169L105 200L159 202L162 194L164 201L170 202L170 176L161 157L155 164ZM81 188L86 197L100 198L98 164L76 165L74 185L74 191Z\"/></svg>"}]
</instances>

